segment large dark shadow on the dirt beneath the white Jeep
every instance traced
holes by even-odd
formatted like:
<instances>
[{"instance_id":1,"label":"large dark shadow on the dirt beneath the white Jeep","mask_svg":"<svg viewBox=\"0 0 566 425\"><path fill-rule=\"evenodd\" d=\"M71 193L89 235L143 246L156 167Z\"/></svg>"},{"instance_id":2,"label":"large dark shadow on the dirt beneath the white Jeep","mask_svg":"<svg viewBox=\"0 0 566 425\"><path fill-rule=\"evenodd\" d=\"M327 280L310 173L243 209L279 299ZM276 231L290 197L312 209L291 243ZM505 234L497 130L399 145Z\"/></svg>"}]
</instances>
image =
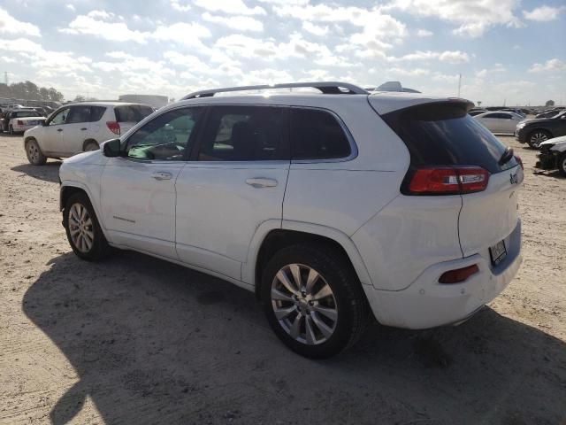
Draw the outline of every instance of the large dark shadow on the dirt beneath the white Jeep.
<instances>
[{"instance_id":1,"label":"large dark shadow on the dirt beneath the white Jeep","mask_svg":"<svg viewBox=\"0 0 566 425\"><path fill-rule=\"evenodd\" d=\"M312 361L279 343L251 292L117 251L52 259L23 310L78 375L50 410L56 425L87 397L108 424L566 419L566 344L489 308L455 328L374 325Z\"/></svg>"}]
</instances>

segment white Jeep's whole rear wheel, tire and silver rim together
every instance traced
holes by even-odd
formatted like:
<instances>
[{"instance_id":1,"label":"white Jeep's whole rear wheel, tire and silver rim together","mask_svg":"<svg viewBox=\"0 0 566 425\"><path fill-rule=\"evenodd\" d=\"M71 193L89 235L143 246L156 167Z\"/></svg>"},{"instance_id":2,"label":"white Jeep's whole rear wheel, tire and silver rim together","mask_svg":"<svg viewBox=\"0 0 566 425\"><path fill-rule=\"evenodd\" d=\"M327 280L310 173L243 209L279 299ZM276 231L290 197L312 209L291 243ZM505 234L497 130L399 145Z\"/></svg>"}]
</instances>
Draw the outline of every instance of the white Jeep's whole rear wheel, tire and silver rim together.
<instances>
[{"instance_id":1,"label":"white Jeep's whole rear wheel, tire and silver rim together","mask_svg":"<svg viewBox=\"0 0 566 425\"><path fill-rule=\"evenodd\" d=\"M264 313L279 339L310 359L326 359L356 343L368 305L344 256L324 244L278 251L262 276Z\"/></svg>"}]
</instances>

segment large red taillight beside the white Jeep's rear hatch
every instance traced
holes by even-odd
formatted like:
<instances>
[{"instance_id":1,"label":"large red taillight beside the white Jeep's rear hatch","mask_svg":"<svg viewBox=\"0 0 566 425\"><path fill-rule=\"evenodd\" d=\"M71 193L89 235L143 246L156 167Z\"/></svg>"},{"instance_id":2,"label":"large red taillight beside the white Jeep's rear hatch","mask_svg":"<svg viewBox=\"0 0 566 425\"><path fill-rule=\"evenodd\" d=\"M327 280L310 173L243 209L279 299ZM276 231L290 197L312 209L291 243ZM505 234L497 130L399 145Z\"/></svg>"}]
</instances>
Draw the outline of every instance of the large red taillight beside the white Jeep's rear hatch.
<instances>
[{"instance_id":1,"label":"large red taillight beside the white Jeep's rear hatch","mask_svg":"<svg viewBox=\"0 0 566 425\"><path fill-rule=\"evenodd\" d=\"M485 190L489 173L481 166L417 168L409 182L412 195L457 195Z\"/></svg>"}]
</instances>

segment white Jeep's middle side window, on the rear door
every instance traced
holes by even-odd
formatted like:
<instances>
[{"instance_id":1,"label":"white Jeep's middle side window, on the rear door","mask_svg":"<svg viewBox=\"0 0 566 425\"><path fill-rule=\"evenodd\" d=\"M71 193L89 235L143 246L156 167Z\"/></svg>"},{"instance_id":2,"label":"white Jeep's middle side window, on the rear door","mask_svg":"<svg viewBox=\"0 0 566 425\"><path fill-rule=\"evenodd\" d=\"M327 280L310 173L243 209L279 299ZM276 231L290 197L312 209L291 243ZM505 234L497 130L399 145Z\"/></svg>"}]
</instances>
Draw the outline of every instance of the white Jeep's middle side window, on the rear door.
<instances>
[{"instance_id":1,"label":"white Jeep's middle side window, on the rear door","mask_svg":"<svg viewBox=\"0 0 566 425\"><path fill-rule=\"evenodd\" d=\"M287 159L287 110L272 106L214 106L200 161Z\"/></svg>"}]
</instances>

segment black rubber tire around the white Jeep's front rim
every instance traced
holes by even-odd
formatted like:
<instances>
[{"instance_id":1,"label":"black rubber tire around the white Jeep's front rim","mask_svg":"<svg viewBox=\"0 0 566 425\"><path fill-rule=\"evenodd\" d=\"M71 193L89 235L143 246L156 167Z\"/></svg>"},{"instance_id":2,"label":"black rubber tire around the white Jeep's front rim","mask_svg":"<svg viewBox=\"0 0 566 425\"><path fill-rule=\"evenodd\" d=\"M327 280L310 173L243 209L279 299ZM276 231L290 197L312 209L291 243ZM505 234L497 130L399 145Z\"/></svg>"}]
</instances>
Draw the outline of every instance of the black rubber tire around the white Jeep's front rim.
<instances>
[{"instance_id":1,"label":"black rubber tire around the white Jeep's front rim","mask_svg":"<svg viewBox=\"0 0 566 425\"><path fill-rule=\"evenodd\" d=\"M90 247L88 247L87 243L75 243L73 236L71 236L71 228L73 228L73 231L76 231L77 229L76 224L70 225L70 220L73 220L70 219L70 215L73 214L72 209L75 205L80 205L88 213L87 217L90 219L90 225L82 225L82 229L85 231L88 230L93 236L91 239ZM103 231L100 228L100 224L98 223L98 219L96 218L95 209L92 207L92 204L90 204L90 200L84 192L75 193L71 197L69 197L69 199L67 199L65 210L63 210L63 226L65 226L67 240L69 241L73 252L80 259L85 259L87 261L97 261L99 259L103 259L110 253L111 247L106 241Z\"/></svg>"}]
</instances>

